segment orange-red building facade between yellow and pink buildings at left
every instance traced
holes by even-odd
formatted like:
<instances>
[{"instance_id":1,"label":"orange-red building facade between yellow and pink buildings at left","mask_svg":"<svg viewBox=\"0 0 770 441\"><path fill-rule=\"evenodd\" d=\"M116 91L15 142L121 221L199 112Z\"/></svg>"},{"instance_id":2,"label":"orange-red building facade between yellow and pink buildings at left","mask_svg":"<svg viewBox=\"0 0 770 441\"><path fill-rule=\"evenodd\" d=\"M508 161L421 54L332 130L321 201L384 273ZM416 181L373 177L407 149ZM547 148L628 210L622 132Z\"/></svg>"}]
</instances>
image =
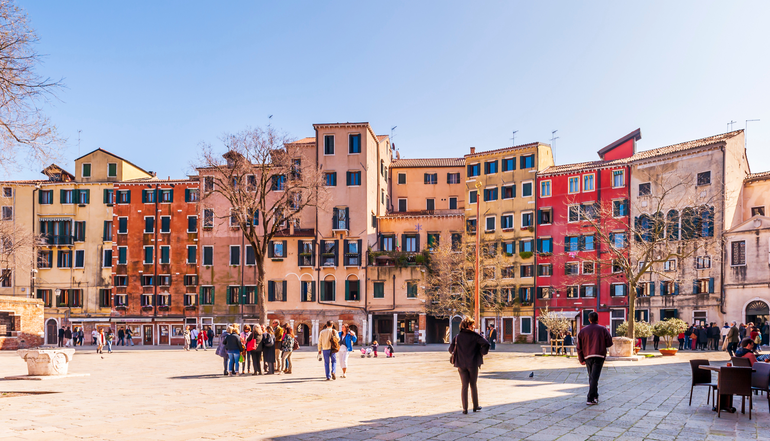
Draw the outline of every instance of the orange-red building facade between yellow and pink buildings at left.
<instances>
[{"instance_id":1,"label":"orange-red building facade between yellow and pink buildings at left","mask_svg":"<svg viewBox=\"0 0 770 441\"><path fill-rule=\"evenodd\" d=\"M198 316L198 181L114 186L112 321L133 342L182 345ZM105 195L105 198L108 197Z\"/></svg>"}]
</instances>

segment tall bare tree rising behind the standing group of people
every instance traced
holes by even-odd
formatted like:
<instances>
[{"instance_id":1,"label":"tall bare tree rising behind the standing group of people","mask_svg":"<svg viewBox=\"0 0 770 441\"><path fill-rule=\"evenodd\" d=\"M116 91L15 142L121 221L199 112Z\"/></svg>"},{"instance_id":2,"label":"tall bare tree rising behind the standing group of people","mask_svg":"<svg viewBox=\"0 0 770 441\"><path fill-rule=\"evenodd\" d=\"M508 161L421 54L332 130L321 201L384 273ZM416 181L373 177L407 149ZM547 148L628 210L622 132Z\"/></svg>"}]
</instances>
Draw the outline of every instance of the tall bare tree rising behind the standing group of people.
<instances>
[{"instance_id":1,"label":"tall bare tree rising behind the standing group of people","mask_svg":"<svg viewBox=\"0 0 770 441\"><path fill-rule=\"evenodd\" d=\"M230 211L219 219L238 226L253 247L257 269L259 319L267 323L265 259L268 246L280 232L294 229L301 215L324 209L328 191L323 172L315 165L315 152L293 144L272 126L248 128L224 135L226 153L202 145L197 169L203 176L202 205L213 207L222 195ZM312 155L311 155L312 154ZM213 221L213 219L211 219ZM207 219L203 219L204 226ZM285 252L286 250L284 250Z\"/></svg>"}]
</instances>

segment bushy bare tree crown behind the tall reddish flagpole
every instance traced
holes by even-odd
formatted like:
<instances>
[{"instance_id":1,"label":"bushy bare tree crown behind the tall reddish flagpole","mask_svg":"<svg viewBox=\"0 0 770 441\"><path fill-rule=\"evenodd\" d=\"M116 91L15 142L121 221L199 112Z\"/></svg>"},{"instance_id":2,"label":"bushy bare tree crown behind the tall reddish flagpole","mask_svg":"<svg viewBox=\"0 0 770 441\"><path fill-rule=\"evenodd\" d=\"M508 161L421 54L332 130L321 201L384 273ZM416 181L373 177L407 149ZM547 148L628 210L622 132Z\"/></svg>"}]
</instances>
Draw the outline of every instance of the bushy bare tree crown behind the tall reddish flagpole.
<instances>
[{"instance_id":1,"label":"bushy bare tree crown behind the tall reddish flagpole","mask_svg":"<svg viewBox=\"0 0 770 441\"><path fill-rule=\"evenodd\" d=\"M514 262L498 249L492 237L481 241L480 300L484 311L501 312L515 299ZM472 316L476 306L476 240L464 234L460 242L441 242L430 252L421 296L428 314ZM480 324L479 324L480 326Z\"/></svg>"}]
</instances>

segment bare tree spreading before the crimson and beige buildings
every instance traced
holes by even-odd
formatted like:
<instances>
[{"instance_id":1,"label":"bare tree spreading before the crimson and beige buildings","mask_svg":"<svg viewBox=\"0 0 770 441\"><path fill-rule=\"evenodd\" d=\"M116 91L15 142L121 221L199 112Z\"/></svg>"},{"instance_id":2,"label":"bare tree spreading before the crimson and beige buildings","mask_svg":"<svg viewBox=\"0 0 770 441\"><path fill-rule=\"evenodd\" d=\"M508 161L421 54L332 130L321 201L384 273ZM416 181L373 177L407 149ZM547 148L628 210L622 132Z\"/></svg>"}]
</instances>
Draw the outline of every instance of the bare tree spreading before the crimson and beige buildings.
<instances>
[{"instance_id":1,"label":"bare tree spreading before the crimson and beige buildings","mask_svg":"<svg viewBox=\"0 0 770 441\"><path fill-rule=\"evenodd\" d=\"M715 214L721 213L725 195L709 194L698 188L692 175L663 171L649 172L649 175L649 187L640 190L644 194L633 205L628 200L570 205L568 220L580 222L583 231L574 241L561 242L564 252L555 253L579 260L565 268L567 274L609 269L618 281L628 286L627 335L630 336L635 335L637 296L644 295L642 276L657 274L671 286L678 286L681 272L671 271L671 259L682 262L709 254L713 262L717 262L720 256L720 242L715 238ZM621 219L628 215L629 209L634 218L631 225L625 225ZM590 248L585 236L593 237ZM593 252L577 257L578 252L586 250ZM572 268L573 265L577 267ZM569 289L569 285L559 288L565 287Z\"/></svg>"}]
</instances>

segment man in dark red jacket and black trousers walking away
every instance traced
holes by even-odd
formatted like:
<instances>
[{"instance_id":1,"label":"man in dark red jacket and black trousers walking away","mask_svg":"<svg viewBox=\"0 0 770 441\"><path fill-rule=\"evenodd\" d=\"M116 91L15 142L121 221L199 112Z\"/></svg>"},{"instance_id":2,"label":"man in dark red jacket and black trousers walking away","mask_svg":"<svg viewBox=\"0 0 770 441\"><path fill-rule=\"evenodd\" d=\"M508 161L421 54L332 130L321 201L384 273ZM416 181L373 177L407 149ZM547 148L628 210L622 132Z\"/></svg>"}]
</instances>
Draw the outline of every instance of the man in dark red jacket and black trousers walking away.
<instances>
[{"instance_id":1,"label":"man in dark red jacket and black trousers walking away","mask_svg":"<svg viewBox=\"0 0 770 441\"><path fill-rule=\"evenodd\" d=\"M591 322L580 332L577 332L577 359L581 365L588 368L588 400L586 404L599 403L599 376L601 366L604 366L604 358L607 357L607 348L612 346L612 336L599 322L599 314L592 311L588 314Z\"/></svg>"}]
</instances>

